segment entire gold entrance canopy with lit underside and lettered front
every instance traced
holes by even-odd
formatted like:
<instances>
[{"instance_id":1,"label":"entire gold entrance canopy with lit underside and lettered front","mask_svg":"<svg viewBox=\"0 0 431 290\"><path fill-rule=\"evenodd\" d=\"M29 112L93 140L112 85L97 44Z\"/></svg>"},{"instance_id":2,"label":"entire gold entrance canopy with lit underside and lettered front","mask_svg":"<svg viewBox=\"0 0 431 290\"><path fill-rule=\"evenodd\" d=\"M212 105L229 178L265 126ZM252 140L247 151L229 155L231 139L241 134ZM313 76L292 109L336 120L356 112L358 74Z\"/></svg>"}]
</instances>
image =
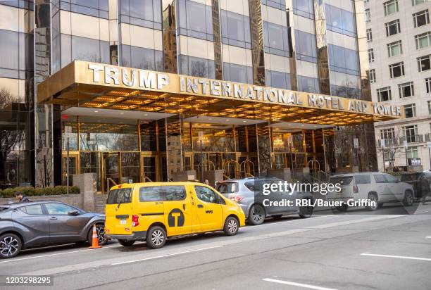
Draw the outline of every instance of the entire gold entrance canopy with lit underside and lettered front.
<instances>
[{"instance_id":1,"label":"entire gold entrance canopy with lit underside and lettered front","mask_svg":"<svg viewBox=\"0 0 431 290\"><path fill-rule=\"evenodd\" d=\"M37 87L39 103L318 125L404 118L399 106L73 61Z\"/></svg>"}]
</instances>

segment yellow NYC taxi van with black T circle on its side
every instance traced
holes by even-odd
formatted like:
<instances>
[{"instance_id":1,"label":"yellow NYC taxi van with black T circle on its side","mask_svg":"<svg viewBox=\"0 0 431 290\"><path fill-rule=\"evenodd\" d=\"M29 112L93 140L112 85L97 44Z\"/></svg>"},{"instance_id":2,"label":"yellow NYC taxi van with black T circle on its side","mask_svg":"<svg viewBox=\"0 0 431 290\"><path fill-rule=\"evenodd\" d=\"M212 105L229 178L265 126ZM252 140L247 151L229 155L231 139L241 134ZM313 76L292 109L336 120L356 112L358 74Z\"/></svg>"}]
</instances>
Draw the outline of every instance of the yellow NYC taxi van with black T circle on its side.
<instances>
[{"instance_id":1,"label":"yellow NYC taxi van with black T circle on its side","mask_svg":"<svg viewBox=\"0 0 431 290\"><path fill-rule=\"evenodd\" d=\"M146 241L161 248L168 237L219 230L233 236L244 225L235 201L197 182L120 184L106 200L106 237L123 246Z\"/></svg>"}]
</instances>

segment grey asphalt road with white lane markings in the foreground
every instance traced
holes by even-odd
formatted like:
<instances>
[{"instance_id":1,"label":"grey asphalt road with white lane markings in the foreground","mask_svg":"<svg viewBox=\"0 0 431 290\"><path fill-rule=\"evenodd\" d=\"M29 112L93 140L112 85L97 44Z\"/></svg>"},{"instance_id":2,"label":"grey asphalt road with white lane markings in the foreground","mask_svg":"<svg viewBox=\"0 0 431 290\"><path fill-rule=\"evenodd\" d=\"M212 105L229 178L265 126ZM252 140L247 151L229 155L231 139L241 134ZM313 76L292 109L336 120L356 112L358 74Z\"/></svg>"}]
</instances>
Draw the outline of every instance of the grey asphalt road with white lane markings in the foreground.
<instances>
[{"instance_id":1,"label":"grey asphalt road with white lane markings in the foreground","mask_svg":"<svg viewBox=\"0 0 431 290\"><path fill-rule=\"evenodd\" d=\"M429 290L431 204L415 215L382 215L391 211L288 216L235 237L172 239L158 250L111 242L24 251L0 260L0 275L54 275L46 289Z\"/></svg>"}]
</instances>

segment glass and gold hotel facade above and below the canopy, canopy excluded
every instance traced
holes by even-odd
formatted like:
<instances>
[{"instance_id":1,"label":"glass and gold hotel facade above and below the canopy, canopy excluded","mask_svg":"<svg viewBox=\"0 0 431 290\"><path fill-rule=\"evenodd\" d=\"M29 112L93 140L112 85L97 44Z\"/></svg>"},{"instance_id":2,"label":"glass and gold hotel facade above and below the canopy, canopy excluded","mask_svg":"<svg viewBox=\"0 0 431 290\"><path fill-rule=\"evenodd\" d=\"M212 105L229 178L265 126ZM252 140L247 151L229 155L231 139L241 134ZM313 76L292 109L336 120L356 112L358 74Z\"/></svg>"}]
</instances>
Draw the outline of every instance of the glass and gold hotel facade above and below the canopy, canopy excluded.
<instances>
[{"instance_id":1,"label":"glass and gold hotel facade above and below the canopy, canopy excluded","mask_svg":"<svg viewBox=\"0 0 431 290\"><path fill-rule=\"evenodd\" d=\"M362 99L356 4L325 2L0 1L0 187L64 184L66 149L69 173L96 173L99 191L201 168L225 178L374 169L372 150L351 149L373 142L366 126L192 119L199 111L104 120L35 102L37 84L74 60Z\"/></svg>"}]
</instances>

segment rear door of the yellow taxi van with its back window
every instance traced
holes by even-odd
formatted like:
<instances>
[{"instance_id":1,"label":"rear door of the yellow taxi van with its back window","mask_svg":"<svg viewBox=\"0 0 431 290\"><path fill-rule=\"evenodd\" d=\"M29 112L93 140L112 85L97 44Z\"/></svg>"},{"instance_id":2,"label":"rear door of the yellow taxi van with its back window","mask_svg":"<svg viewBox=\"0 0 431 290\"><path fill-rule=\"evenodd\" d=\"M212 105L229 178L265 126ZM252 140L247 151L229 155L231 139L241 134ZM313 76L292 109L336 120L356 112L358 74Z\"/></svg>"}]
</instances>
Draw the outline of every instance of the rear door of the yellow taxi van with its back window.
<instances>
[{"instance_id":1,"label":"rear door of the yellow taxi van with its back window","mask_svg":"<svg viewBox=\"0 0 431 290\"><path fill-rule=\"evenodd\" d=\"M106 234L132 234L133 187L113 188L106 200Z\"/></svg>"}]
</instances>

